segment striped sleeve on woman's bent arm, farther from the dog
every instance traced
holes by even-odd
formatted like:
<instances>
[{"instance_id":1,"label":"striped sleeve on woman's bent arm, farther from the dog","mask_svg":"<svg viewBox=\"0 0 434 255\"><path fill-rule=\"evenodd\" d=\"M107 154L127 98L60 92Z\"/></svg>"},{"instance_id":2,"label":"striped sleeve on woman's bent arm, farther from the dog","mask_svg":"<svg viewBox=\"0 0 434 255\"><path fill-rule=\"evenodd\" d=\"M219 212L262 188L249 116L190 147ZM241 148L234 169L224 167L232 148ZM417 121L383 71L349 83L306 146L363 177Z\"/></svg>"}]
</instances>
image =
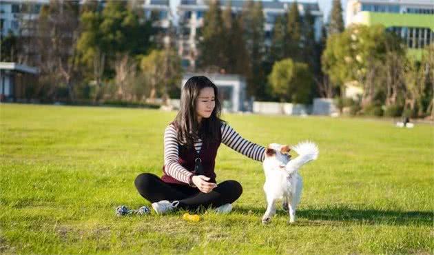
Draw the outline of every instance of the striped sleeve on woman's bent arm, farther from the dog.
<instances>
[{"instance_id":1,"label":"striped sleeve on woman's bent arm, farther from the dog","mask_svg":"<svg viewBox=\"0 0 434 255\"><path fill-rule=\"evenodd\" d=\"M164 165L165 172L178 181L189 183L192 172L185 169L179 159L179 143L176 129L173 124L167 126L164 133Z\"/></svg>"}]
</instances>

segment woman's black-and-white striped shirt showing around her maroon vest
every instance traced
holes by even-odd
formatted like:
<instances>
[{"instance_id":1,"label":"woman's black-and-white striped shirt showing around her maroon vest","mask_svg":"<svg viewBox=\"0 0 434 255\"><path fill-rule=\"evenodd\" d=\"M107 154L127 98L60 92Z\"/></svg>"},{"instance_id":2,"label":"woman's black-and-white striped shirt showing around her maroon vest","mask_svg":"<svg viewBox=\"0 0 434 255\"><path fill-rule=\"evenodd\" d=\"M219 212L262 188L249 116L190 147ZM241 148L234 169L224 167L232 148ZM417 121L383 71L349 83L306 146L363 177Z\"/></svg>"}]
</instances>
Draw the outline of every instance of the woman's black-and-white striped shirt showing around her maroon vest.
<instances>
[{"instance_id":1,"label":"woman's black-and-white striped shirt showing around her maroon vest","mask_svg":"<svg viewBox=\"0 0 434 255\"><path fill-rule=\"evenodd\" d=\"M250 159L256 161L264 161L265 159L265 147L252 143L243 139L231 126L223 123L222 128L222 143L230 147L231 149L239 152ZM202 147L202 141L200 139L194 143L196 151L199 153ZM164 165L165 172L172 176L174 179L183 183L189 183L189 178L192 176L192 172L185 169L180 163L179 159L179 143L176 129L173 124L167 126L164 133Z\"/></svg>"}]
</instances>

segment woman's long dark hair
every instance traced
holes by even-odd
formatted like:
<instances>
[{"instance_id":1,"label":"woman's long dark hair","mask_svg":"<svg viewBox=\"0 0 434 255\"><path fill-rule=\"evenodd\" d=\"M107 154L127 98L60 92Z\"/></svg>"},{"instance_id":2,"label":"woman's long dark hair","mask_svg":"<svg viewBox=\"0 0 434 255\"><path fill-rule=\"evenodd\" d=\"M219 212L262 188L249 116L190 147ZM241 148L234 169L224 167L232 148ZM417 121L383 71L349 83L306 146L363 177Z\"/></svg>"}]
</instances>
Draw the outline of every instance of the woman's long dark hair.
<instances>
[{"instance_id":1,"label":"woman's long dark hair","mask_svg":"<svg viewBox=\"0 0 434 255\"><path fill-rule=\"evenodd\" d=\"M213 88L216 100L216 107L211 112L211 116L198 123L196 114L196 103L200 90L203 88ZM181 90L180 108L175 118L175 126L178 130L178 141L187 147L193 147L194 141L198 138L203 140L204 145L209 142L218 141L220 135L221 105L218 100L218 90L212 81L205 76L193 76L185 83Z\"/></svg>"}]
</instances>

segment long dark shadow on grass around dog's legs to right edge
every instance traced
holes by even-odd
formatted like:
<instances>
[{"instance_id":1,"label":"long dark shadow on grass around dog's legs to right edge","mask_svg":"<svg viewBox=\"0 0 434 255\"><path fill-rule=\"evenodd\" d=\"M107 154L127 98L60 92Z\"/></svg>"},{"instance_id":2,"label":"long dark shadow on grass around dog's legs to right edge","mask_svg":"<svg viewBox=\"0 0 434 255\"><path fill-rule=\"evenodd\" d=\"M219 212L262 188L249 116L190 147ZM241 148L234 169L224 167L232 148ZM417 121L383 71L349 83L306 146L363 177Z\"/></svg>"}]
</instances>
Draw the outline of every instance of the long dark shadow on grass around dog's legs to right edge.
<instances>
[{"instance_id":1,"label":"long dark shadow on grass around dog's legs to right edge","mask_svg":"<svg viewBox=\"0 0 434 255\"><path fill-rule=\"evenodd\" d=\"M252 214L262 217L265 213L265 206L259 207L234 207L235 213ZM363 223L366 225L426 225L432 226L434 212L402 212L398 210L377 210L377 209L354 209L346 206L325 207L325 208L302 208L297 210L296 215L300 220L311 221L317 225L318 221L335 221L340 223ZM277 216L287 216L281 207L278 207ZM304 225L304 224L303 224ZM324 225L324 224L320 224Z\"/></svg>"}]
</instances>

